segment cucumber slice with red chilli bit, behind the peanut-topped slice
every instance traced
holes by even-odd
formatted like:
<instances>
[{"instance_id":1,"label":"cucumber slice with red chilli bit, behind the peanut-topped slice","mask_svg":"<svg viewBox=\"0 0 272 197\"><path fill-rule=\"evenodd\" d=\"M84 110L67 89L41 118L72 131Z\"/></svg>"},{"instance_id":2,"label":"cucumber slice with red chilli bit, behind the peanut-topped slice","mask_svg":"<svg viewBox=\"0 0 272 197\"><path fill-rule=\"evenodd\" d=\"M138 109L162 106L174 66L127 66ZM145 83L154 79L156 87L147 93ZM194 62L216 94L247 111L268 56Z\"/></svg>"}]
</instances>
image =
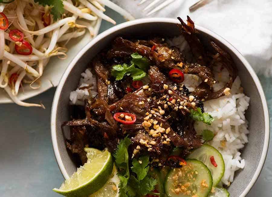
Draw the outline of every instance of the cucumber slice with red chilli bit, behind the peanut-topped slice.
<instances>
[{"instance_id":1,"label":"cucumber slice with red chilli bit, behind the peanut-topped slice","mask_svg":"<svg viewBox=\"0 0 272 197\"><path fill-rule=\"evenodd\" d=\"M210 158L214 157L214 160L217 164L215 167L212 163ZM203 144L202 147L193 150L193 152L188 156L189 159L197 159L202 161L211 171L212 173L212 180L213 180L213 187L216 187L217 184L222 179L224 172L225 172L225 162L221 153L214 147Z\"/></svg>"}]
</instances>

